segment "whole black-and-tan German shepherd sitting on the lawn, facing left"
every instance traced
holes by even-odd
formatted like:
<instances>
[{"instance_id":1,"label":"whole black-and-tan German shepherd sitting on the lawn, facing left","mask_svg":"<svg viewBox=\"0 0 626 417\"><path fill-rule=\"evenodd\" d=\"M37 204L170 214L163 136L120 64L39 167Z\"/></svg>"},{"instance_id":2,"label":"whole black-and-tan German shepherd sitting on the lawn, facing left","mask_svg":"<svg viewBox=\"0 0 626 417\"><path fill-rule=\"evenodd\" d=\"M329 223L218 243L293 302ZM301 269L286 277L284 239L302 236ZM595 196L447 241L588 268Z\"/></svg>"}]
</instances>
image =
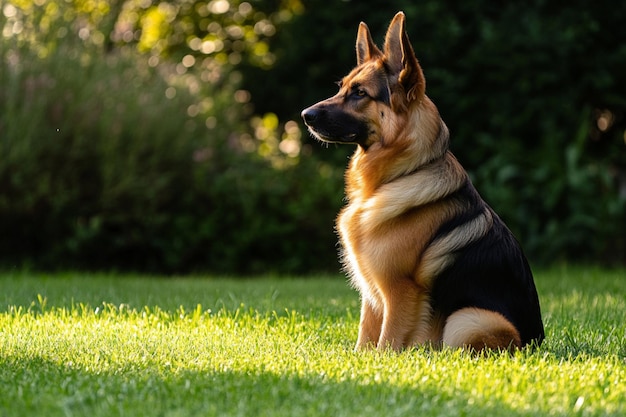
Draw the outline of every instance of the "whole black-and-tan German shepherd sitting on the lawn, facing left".
<instances>
[{"instance_id":1,"label":"whole black-and-tan German shepherd sitting on the lawn, facing left","mask_svg":"<svg viewBox=\"0 0 626 417\"><path fill-rule=\"evenodd\" d=\"M357 67L304 111L316 138L356 144L337 218L361 295L356 349L515 350L544 338L526 257L448 150L448 129L398 13L381 51L361 23Z\"/></svg>"}]
</instances>

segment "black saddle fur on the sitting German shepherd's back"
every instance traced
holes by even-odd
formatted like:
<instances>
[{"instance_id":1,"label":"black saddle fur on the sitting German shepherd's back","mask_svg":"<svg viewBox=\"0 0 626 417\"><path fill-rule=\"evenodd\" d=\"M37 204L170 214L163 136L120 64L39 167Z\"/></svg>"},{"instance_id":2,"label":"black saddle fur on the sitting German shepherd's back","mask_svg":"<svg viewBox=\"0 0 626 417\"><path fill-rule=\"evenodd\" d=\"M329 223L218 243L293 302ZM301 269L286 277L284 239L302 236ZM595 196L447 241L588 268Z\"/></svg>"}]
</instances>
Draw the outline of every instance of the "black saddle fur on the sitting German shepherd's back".
<instances>
[{"instance_id":1,"label":"black saddle fur on the sitting German shepherd's back","mask_svg":"<svg viewBox=\"0 0 626 417\"><path fill-rule=\"evenodd\" d=\"M544 330L539 299L519 243L469 181L456 194L454 198L471 209L442 225L438 236L453 233L483 210L493 220L487 234L459 250L454 262L433 281L433 310L443 317L467 307L495 311L518 330L521 346L540 344Z\"/></svg>"}]
</instances>

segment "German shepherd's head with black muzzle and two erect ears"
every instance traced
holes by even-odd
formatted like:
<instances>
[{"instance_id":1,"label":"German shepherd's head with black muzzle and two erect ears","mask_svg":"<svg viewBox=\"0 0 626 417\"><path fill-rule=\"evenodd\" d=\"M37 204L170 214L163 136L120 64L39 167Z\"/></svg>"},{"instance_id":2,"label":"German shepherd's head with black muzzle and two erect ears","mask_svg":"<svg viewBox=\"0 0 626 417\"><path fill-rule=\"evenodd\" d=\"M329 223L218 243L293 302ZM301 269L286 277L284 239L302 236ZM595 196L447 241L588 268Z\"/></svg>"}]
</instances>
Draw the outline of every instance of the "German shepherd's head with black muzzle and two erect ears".
<instances>
[{"instance_id":1,"label":"German shepherd's head with black muzzle and two erect ears","mask_svg":"<svg viewBox=\"0 0 626 417\"><path fill-rule=\"evenodd\" d=\"M424 98L425 80L409 37L404 13L396 14L381 51L365 23L357 35L357 66L339 92L302 111L310 132L326 142L385 143L406 125L409 109Z\"/></svg>"}]
</instances>

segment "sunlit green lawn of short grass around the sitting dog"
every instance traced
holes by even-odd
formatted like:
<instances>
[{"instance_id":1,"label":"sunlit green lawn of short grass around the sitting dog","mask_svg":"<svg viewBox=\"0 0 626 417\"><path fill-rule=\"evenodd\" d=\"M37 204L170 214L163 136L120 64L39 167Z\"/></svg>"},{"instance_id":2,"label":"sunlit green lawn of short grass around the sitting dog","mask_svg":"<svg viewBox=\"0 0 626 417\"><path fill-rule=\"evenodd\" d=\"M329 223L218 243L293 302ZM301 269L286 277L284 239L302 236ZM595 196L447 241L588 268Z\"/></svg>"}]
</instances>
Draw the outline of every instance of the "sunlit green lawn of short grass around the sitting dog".
<instances>
[{"instance_id":1,"label":"sunlit green lawn of short grass around the sitting dog","mask_svg":"<svg viewBox=\"0 0 626 417\"><path fill-rule=\"evenodd\" d=\"M547 339L352 352L342 277L0 274L0 416L624 416L626 271L536 273Z\"/></svg>"}]
</instances>

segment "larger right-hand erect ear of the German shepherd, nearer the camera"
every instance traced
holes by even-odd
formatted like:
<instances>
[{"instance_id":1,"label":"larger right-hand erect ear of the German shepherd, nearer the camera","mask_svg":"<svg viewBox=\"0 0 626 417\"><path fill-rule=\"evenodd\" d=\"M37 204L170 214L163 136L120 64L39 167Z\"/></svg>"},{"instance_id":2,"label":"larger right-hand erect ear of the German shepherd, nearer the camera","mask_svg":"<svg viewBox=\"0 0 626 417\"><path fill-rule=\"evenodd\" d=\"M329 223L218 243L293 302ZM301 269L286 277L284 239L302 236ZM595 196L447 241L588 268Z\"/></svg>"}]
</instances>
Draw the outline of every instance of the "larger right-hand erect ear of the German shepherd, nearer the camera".
<instances>
[{"instance_id":1,"label":"larger right-hand erect ear of the German shepherd, nearer the camera","mask_svg":"<svg viewBox=\"0 0 626 417\"><path fill-rule=\"evenodd\" d=\"M409 102L424 95L426 81L422 68L404 28L404 13L399 12L391 21L385 37L385 60L398 83L404 88Z\"/></svg>"}]
</instances>

